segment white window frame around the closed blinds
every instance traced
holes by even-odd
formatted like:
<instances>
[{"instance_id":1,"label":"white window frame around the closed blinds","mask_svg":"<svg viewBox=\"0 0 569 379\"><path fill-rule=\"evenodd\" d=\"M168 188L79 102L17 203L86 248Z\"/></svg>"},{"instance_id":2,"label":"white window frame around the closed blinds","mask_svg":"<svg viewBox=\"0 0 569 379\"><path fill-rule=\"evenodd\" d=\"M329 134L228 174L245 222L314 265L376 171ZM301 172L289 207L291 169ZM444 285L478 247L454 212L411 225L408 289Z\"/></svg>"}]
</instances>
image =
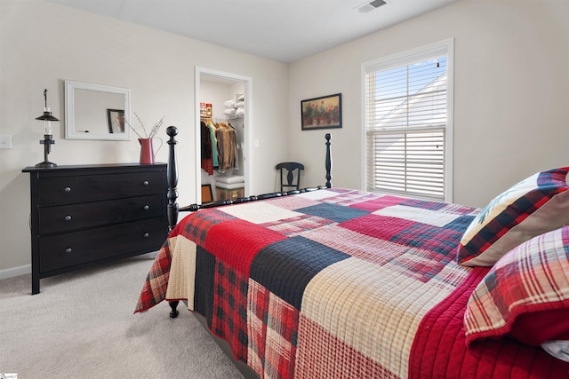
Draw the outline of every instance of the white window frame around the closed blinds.
<instances>
[{"instance_id":1,"label":"white window frame around the closed blinds","mask_svg":"<svg viewBox=\"0 0 569 379\"><path fill-rule=\"evenodd\" d=\"M372 71L378 70L388 70L389 68L405 66L413 64L420 61L421 59L429 59L433 53L441 51L441 54L445 54L447 58L447 89L446 89L446 126L445 126L445 166L444 166L444 192L445 192L445 202L453 202L453 109L454 109L454 38L449 38L444 41L439 41L437 43L430 43L418 48L414 48L407 51L401 51L396 54L389 55L380 59L373 59L362 63L361 67L361 99L362 99L362 130L361 130L361 144L362 156L361 156L361 186L363 189L367 188L367 94L366 94L366 75ZM421 195L414 195L413 197L424 198L432 200L427 196L421 197Z\"/></svg>"}]
</instances>

